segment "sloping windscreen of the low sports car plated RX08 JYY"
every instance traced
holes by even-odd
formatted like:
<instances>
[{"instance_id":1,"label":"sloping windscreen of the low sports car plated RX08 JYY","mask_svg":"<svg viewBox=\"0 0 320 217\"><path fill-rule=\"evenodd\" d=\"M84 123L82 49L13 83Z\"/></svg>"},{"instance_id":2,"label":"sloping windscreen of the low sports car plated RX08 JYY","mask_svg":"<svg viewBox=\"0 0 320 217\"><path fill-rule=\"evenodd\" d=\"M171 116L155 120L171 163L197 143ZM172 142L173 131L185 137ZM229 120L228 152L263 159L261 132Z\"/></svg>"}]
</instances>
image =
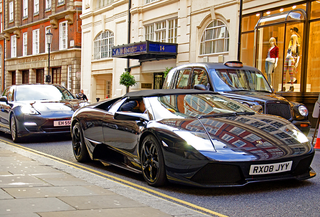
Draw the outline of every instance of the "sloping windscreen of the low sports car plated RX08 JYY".
<instances>
[{"instance_id":1,"label":"sloping windscreen of the low sports car plated RX08 JYY","mask_svg":"<svg viewBox=\"0 0 320 217\"><path fill-rule=\"evenodd\" d=\"M216 94L186 94L149 97L155 119L204 118L253 115L254 110ZM220 115L218 115L220 114ZM207 116L207 117L209 117Z\"/></svg>"}]
</instances>

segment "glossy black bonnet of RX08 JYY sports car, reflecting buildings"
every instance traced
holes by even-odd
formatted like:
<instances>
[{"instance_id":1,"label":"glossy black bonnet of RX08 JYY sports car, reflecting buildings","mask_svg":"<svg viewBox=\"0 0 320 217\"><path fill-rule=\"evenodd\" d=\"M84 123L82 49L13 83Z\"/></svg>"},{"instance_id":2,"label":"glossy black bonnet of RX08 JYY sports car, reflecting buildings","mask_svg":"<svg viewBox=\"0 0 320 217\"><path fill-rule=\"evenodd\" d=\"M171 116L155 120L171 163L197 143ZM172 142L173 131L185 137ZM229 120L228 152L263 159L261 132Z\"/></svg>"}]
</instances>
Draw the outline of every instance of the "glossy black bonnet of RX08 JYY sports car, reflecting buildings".
<instances>
[{"instance_id":1,"label":"glossy black bonnet of RX08 JYY sports car, reflecting buildings","mask_svg":"<svg viewBox=\"0 0 320 217\"><path fill-rule=\"evenodd\" d=\"M174 122L162 121L173 126ZM177 120L177 131L208 134L213 149L205 150L203 138L192 145L206 157L221 161L267 160L298 156L312 151L307 138L285 119L269 115ZM179 135L179 132L176 133ZM194 140L194 139L193 139Z\"/></svg>"}]
</instances>

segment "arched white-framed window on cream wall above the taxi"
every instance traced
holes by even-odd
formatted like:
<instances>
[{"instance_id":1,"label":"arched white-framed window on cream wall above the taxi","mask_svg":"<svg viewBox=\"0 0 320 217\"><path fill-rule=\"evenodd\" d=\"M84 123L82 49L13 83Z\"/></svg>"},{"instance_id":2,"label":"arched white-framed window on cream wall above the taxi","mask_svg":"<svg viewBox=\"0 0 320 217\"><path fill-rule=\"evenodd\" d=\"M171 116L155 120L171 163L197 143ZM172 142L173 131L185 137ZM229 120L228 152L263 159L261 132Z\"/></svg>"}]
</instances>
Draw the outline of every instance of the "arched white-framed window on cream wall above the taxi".
<instances>
[{"instance_id":1,"label":"arched white-framed window on cream wall above the taxi","mask_svg":"<svg viewBox=\"0 0 320 217\"><path fill-rule=\"evenodd\" d=\"M229 32L221 21L212 21L201 37L200 55L229 51Z\"/></svg>"}]
</instances>

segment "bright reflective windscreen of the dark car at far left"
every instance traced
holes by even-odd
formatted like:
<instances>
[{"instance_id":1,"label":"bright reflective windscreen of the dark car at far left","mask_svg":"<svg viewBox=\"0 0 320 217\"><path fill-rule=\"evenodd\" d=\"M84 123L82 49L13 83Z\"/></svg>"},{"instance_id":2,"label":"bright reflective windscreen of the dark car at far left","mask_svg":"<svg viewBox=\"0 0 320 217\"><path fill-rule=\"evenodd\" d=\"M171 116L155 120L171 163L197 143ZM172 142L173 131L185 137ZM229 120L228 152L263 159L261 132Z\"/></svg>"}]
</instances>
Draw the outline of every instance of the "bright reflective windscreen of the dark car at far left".
<instances>
[{"instance_id":1,"label":"bright reflective windscreen of the dark car at far left","mask_svg":"<svg viewBox=\"0 0 320 217\"><path fill-rule=\"evenodd\" d=\"M75 99L65 88L53 85L21 85L16 89L16 100L55 100Z\"/></svg>"}]
</instances>

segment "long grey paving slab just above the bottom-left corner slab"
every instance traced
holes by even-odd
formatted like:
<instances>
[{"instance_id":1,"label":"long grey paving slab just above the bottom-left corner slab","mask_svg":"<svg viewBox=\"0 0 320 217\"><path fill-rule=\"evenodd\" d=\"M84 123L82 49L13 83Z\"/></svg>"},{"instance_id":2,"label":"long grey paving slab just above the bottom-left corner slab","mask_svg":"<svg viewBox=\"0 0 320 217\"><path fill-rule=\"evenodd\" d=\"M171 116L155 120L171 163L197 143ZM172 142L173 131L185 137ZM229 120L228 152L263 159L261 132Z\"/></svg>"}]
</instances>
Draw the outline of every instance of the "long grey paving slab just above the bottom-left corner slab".
<instances>
[{"instance_id":1,"label":"long grey paving slab just above the bottom-left corner slab","mask_svg":"<svg viewBox=\"0 0 320 217\"><path fill-rule=\"evenodd\" d=\"M94 196L116 194L96 185L3 188L15 198Z\"/></svg>"}]
</instances>

